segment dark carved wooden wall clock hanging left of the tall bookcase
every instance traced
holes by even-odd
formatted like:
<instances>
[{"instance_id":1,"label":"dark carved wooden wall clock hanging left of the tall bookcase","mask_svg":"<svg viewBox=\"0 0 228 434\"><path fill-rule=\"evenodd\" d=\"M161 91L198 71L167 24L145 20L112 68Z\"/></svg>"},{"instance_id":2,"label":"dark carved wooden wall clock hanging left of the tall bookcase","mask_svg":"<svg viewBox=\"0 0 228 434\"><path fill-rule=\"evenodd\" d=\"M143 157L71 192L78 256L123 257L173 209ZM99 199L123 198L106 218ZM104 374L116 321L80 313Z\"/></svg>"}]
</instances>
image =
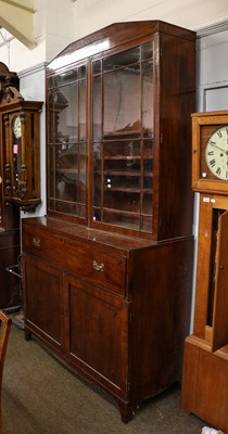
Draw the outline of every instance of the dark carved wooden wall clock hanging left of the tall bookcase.
<instances>
[{"instance_id":1,"label":"dark carved wooden wall clock hanging left of the tall bookcase","mask_svg":"<svg viewBox=\"0 0 228 434\"><path fill-rule=\"evenodd\" d=\"M3 145L3 194L21 207L40 203L39 112L42 102L25 101L5 86L1 103Z\"/></svg>"}]
</instances>

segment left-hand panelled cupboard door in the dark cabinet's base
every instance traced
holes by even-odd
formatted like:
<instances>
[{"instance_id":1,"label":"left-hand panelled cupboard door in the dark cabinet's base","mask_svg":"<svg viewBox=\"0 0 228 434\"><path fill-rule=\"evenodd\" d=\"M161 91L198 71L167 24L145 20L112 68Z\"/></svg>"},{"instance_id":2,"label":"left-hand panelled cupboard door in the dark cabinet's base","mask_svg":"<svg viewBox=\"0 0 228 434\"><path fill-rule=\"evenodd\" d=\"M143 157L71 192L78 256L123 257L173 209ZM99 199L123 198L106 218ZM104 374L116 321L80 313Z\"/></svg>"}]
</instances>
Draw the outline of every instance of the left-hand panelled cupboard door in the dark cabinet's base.
<instances>
[{"instance_id":1,"label":"left-hand panelled cupboard door in the dark cabinet's base","mask_svg":"<svg viewBox=\"0 0 228 434\"><path fill-rule=\"evenodd\" d=\"M62 271L23 256L25 328L55 348L63 346Z\"/></svg>"}]
</instances>

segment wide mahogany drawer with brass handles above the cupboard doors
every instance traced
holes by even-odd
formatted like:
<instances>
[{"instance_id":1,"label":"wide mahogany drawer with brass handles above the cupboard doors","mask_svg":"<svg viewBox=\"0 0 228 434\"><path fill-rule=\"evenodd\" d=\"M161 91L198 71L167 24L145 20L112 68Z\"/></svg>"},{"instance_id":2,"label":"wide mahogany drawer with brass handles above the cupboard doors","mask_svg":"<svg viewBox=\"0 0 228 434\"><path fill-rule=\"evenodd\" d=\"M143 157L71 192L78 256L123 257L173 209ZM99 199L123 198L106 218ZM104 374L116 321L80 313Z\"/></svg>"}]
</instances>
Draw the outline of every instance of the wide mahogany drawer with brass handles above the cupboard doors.
<instances>
[{"instance_id":1,"label":"wide mahogany drawer with brass handles above the cupboard doors","mask_svg":"<svg viewBox=\"0 0 228 434\"><path fill-rule=\"evenodd\" d=\"M106 290L125 295L126 258L97 246L24 225L23 253L49 260Z\"/></svg>"}]
</instances>

